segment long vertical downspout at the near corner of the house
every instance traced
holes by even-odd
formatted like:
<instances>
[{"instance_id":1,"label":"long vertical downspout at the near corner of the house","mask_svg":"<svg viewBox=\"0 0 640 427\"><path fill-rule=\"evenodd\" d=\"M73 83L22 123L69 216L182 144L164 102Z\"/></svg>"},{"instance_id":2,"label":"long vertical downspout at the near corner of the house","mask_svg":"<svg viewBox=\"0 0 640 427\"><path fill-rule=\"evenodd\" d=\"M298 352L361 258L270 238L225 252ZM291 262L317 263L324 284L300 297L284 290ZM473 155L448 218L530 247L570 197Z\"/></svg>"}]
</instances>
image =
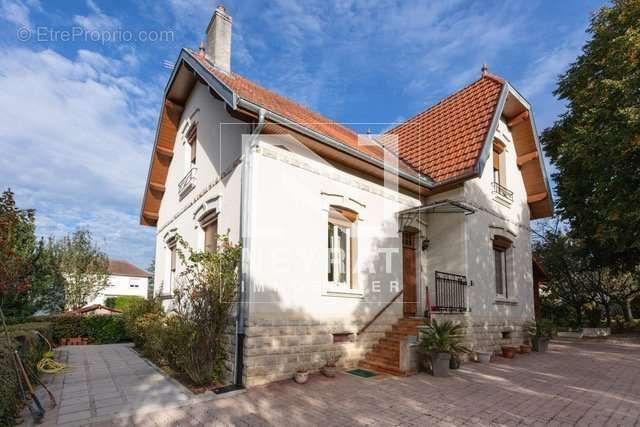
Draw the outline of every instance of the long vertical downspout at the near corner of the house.
<instances>
[{"instance_id":1,"label":"long vertical downspout at the near corner of the house","mask_svg":"<svg viewBox=\"0 0 640 427\"><path fill-rule=\"evenodd\" d=\"M262 128L264 127L265 110L260 109L258 112L258 122L253 128L251 137L246 147L243 147L242 162L242 179L240 187L240 241L242 243L242 253L240 259L240 289L238 295L238 313L236 318L236 357L235 357L235 383L234 389L244 388L244 339L245 339L245 307L248 303L248 289L251 285L251 250L250 250L250 225L249 215L251 214L251 150L254 142Z\"/></svg>"}]
</instances>

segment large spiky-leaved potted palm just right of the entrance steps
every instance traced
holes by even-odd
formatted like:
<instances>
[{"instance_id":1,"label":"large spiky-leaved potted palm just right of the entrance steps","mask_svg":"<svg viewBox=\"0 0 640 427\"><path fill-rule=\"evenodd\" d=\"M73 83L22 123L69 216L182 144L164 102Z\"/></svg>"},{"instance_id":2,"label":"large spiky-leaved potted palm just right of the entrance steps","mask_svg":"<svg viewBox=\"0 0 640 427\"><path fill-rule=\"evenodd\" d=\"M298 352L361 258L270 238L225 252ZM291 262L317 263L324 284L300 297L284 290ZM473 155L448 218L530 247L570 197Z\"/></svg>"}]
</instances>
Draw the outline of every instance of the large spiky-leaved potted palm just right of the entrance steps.
<instances>
[{"instance_id":1,"label":"large spiky-leaved potted palm just right of the entrance steps","mask_svg":"<svg viewBox=\"0 0 640 427\"><path fill-rule=\"evenodd\" d=\"M421 353L429 355L431 374L434 377L449 375L452 354L469 351L462 345L463 336L462 325L450 320L433 320L431 325L424 328L419 346Z\"/></svg>"}]
</instances>

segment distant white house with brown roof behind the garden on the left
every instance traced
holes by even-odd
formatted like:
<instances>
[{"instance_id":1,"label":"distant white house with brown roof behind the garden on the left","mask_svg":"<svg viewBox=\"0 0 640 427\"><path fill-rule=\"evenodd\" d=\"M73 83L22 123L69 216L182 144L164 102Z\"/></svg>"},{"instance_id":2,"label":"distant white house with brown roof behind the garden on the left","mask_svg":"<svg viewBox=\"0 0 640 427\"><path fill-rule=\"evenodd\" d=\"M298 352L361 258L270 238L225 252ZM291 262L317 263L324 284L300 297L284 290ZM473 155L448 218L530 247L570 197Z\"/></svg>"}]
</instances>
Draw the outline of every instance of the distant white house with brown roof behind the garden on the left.
<instances>
[{"instance_id":1,"label":"distant white house with brown roof behind the garden on the left","mask_svg":"<svg viewBox=\"0 0 640 427\"><path fill-rule=\"evenodd\" d=\"M130 262L109 260L109 278L106 288L101 290L87 306L104 305L109 297L139 296L147 298L150 274Z\"/></svg>"}]
</instances>

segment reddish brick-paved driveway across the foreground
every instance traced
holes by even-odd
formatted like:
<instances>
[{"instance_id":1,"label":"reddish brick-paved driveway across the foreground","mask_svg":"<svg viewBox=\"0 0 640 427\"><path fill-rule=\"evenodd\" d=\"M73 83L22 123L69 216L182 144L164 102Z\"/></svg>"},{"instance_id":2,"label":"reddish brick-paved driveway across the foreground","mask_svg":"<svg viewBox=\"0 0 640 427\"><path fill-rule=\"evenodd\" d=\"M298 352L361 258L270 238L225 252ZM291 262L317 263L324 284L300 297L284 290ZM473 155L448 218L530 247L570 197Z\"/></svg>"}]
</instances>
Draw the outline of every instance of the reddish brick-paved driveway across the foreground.
<instances>
[{"instance_id":1,"label":"reddish brick-paved driveway across the foreground","mask_svg":"<svg viewBox=\"0 0 640 427\"><path fill-rule=\"evenodd\" d=\"M94 425L223 424L640 426L640 343L555 341L445 379L312 376Z\"/></svg>"}]
</instances>

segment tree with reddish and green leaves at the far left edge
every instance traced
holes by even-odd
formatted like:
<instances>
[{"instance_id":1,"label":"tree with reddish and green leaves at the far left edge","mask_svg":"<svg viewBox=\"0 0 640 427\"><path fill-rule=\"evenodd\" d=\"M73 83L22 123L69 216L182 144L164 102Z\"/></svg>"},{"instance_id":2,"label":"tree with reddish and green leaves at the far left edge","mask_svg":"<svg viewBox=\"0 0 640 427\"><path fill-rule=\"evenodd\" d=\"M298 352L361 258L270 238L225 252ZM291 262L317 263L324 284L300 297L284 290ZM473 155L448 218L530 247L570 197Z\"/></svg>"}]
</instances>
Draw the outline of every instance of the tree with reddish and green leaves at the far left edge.
<instances>
[{"instance_id":1,"label":"tree with reddish and green leaves at the far left edge","mask_svg":"<svg viewBox=\"0 0 640 427\"><path fill-rule=\"evenodd\" d=\"M0 196L0 296L8 316L29 313L36 247L35 213L18 209L8 189Z\"/></svg>"}]
</instances>

